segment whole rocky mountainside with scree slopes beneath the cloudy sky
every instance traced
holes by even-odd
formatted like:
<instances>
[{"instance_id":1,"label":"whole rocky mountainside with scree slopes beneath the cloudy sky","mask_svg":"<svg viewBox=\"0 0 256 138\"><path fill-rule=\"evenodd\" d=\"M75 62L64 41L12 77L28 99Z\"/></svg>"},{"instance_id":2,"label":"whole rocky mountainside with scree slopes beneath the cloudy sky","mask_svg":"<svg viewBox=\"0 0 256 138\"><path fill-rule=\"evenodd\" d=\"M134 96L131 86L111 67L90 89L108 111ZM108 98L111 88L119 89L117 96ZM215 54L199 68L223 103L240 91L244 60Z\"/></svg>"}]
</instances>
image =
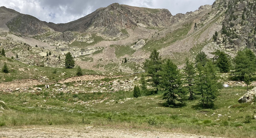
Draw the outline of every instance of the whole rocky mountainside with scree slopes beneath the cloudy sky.
<instances>
[{"instance_id":1,"label":"whole rocky mountainside with scree slopes beneath the cloudy sky","mask_svg":"<svg viewBox=\"0 0 256 138\"><path fill-rule=\"evenodd\" d=\"M55 24L0 7L0 48L9 57L18 54L23 63L52 67L62 67L70 51L82 68L118 72L142 71L143 61L156 49L182 67L185 57L194 60L200 51L208 57L215 50L231 57L246 47L255 51L255 12L254 0L216 0L174 16L167 9L114 3Z\"/></svg>"}]
</instances>

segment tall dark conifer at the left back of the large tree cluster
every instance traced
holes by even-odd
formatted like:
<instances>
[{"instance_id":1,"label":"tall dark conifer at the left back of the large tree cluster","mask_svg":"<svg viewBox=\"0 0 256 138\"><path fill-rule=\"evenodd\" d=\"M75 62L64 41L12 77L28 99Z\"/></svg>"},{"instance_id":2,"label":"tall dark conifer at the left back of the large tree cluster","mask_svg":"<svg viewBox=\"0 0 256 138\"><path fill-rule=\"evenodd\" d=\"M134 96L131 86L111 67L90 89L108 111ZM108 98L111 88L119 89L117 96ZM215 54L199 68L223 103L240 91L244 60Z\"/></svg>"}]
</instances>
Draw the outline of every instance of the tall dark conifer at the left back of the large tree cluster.
<instances>
[{"instance_id":1,"label":"tall dark conifer at the left back of the large tree cluster","mask_svg":"<svg viewBox=\"0 0 256 138\"><path fill-rule=\"evenodd\" d=\"M158 91L157 86L160 83L159 71L161 70L161 65L162 60L161 56L159 56L159 52L153 50L152 53L150 54L149 60L146 59L143 66L145 72L149 76L148 82L152 87L156 88L156 91Z\"/></svg>"}]
</instances>

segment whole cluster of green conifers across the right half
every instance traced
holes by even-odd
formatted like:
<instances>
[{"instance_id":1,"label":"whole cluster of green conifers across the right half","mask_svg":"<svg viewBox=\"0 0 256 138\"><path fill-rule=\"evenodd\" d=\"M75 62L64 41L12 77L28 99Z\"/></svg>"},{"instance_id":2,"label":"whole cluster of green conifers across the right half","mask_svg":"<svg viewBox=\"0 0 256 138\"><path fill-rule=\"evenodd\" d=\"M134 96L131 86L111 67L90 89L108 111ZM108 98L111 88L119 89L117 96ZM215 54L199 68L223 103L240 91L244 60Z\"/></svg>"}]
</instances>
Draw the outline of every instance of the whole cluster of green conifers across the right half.
<instances>
[{"instance_id":1,"label":"whole cluster of green conifers across the right half","mask_svg":"<svg viewBox=\"0 0 256 138\"><path fill-rule=\"evenodd\" d=\"M195 63L186 58L181 72L171 59L162 59L159 52L153 50L144 62L145 75L141 76L140 88L134 87L134 97L139 97L141 91L148 95L163 93L163 99L170 107L178 102L199 99L199 104L207 108L214 106L223 87L216 76L217 71L227 73L232 69L232 79L245 81L247 85L253 80L256 57L251 50L239 51L233 60L220 50L212 54L215 56L208 59L204 52L199 52ZM147 81L145 76L148 77ZM147 85L152 89L148 90Z\"/></svg>"}]
</instances>

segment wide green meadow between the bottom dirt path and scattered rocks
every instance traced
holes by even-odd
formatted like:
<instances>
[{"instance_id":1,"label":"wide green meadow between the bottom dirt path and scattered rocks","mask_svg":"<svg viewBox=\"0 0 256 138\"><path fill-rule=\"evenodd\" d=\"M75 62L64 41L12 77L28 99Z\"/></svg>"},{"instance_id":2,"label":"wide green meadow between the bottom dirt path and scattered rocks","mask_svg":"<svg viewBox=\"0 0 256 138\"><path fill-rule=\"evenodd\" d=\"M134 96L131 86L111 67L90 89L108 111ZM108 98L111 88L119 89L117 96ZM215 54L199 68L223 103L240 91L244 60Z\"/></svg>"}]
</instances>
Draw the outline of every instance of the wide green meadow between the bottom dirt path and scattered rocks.
<instances>
[{"instance_id":1,"label":"wide green meadow between the bottom dirt path and scattered rocks","mask_svg":"<svg viewBox=\"0 0 256 138\"><path fill-rule=\"evenodd\" d=\"M127 78L128 77L128 78ZM126 76L118 79L132 79ZM101 81L112 81L102 79ZM79 82L82 83L82 82ZM67 87L75 82L66 83ZM83 89L90 87L80 86ZM106 86L105 86L106 87ZM111 86L109 86L111 87ZM114 93L62 93L51 86L39 93L0 92L0 100L7 108L0 114L0 126L27 125L83 125L108 126L135 129L161 129L163 131L203 134L223 137L254 137L255 120L247 114L255 114L255 104L240 104L238 98L246 93L246 89L224 88L220 92L215 109L204 109L197 106L198 99L187 101L185 106L170 108L165 106L162 94L133 98L132 91ZM236 95L239 93L239 95ZM145 94L142 94L145 95ZM127 99L126 98L133 98ZM106 99L102 103L74 104L77 101ZM120 100L121 99L121 100ZM42 102L46 100L46 102ZM111 102L114 100L114 102ZM118 102L125 101L124 104ZM220 102L221 101L221 102ZM25 103L26 104L23 104ZM109 104L105 104L109 102ZM232 105L231 108L228 108ZM215 112L216 115L212 115ZM205 116L207 114L207 116ZM217 114L223 117L218 118ZM226 115L225 115L226 114ZM231 118L228 118L231 116ZM83 121L83 118L85 121ZM216 120L220 119L220 120ZM248 121L249 120L249 121ZM244 121L247 123L244 124Z\"/></svg>"}]
</instances>

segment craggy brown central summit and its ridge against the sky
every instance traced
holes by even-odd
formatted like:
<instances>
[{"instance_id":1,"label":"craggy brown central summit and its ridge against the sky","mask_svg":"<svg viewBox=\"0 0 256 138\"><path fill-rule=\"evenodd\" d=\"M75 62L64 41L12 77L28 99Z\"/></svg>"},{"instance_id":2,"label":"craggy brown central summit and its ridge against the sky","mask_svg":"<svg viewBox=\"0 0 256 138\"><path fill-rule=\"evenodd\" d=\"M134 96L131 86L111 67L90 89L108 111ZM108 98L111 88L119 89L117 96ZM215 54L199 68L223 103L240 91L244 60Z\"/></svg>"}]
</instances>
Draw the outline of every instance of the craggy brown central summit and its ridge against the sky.
<instances>
[{"instance_id":1,"label":"craggy brown central summit and its ridge against the sky","mask_svg":"<svg viewBox=\"0 0 256 138\"><path fill-rule=\"evenodd\" d=\"M171 17L172 14L167 9L149 9L114 3L69 23L44 23L59 32L101 29L102 34L114 36L126 35L121 29L138 27L138 24L145 27L167 27Z\"/></svg>"}]
</instances>

